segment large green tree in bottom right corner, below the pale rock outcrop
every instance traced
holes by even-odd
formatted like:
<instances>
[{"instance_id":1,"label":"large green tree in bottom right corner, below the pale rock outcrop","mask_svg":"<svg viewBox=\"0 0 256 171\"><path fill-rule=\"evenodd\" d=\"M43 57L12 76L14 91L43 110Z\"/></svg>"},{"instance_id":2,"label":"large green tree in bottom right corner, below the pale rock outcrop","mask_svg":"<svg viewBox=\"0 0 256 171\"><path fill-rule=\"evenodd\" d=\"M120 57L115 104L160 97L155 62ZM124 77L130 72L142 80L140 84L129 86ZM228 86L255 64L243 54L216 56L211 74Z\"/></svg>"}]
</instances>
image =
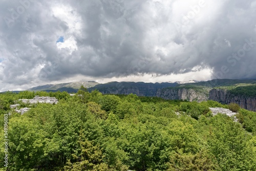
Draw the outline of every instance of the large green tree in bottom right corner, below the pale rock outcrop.
<instances>
[{"instance_id":1,"label":"large green tree in bottom right corner, below the pale rock outcrop","mask_svg":"<svg viewBox=\"0 0 256 171\"><path fill-rule=\"evenodd\" d=\"M210 119L207 137L209 151L213 154L221 170L255 170L252 147L247 142L251 138L239 123L228 116L218 114Z\"/></svg>"}]
</instances>

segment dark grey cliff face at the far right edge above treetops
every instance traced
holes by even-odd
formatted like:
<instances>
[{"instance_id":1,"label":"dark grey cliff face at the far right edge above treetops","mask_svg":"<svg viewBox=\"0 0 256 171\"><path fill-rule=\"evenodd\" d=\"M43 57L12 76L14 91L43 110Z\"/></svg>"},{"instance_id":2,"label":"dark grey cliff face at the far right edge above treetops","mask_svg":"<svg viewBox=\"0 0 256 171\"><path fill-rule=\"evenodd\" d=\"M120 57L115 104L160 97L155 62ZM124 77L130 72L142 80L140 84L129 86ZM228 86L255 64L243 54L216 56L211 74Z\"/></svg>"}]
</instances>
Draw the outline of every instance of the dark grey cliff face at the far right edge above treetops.
<instances>
[{"instance_id":1,"label":"dark grey cliff face at the far right edge above treetops","mask_svg":"<svg viewBox=\"0 0 256 171\"><path fill-rule=\"evenodd\" d=\"M237 103L241 108L256 112L256 97L246 97L244 95L233 95L227 90L212 89L209 92L209 100L229 104Z\"/></svg>"}]
</instances>

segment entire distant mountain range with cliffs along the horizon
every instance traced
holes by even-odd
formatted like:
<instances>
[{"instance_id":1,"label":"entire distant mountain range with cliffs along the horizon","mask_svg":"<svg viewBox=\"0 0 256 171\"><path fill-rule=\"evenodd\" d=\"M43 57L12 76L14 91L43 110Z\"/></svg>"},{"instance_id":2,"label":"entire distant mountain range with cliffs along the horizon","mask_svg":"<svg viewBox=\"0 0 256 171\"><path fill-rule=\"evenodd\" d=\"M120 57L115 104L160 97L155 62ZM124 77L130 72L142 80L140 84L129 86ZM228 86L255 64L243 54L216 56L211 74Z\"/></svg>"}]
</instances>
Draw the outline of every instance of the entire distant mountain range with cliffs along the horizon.
<instances>
[{"instance_id":1,"label":"entire distant mountain range with cliffs along the horizon","mask_svg":"<svg viewBox=\"0 0 256 171\"><path fill-rule=\"evenodd\" d=\"M89 92L98 90L102 94L136 94L138 96L181 99L187 101L215 100L224 104L237 103L242 108L256 111L256 80L214 79L209 81L180 82L108 82L80 81L59 84L47 84L28 89L28 91L66 91L76 93L80 86Z\"/></svg>"}]
</instances>

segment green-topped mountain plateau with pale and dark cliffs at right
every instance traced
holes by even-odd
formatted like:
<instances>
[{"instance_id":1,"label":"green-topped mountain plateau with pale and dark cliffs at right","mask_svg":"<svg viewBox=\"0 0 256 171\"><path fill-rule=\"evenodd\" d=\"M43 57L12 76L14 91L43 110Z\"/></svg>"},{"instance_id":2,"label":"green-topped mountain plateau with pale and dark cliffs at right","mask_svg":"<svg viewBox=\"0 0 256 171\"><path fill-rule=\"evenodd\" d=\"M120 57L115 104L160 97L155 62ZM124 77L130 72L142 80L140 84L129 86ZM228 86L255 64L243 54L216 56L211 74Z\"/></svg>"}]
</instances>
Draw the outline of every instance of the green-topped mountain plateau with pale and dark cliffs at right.
<instances>
[{"instance_id":1,"label":"green-topped mountain plateau with pale and dark cliffs at right","mask_svg":"<svg viewBox=\"0 0 256 171\"><path fill-rule=\"evenodd\" d=\"M256 112L256 80L215 79L159 89L157 97L188 101L214 100L223 104L237 103Z\"/></svg>"}]
</instances>

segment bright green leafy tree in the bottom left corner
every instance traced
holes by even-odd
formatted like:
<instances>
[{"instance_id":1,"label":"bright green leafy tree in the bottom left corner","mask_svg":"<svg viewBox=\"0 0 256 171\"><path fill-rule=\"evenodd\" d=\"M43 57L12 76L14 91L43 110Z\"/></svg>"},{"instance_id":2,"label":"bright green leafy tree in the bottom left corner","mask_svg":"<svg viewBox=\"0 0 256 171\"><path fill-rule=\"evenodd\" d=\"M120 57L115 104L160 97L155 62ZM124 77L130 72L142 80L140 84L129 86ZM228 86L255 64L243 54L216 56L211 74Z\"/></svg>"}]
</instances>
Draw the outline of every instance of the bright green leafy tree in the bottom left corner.
<instances>
[{"instance_id":1,"label":"bright green leafy tree in the bottom left corner","mask_svg":"<svg viewBox=\"0 0 256 171\"><path fill-rule=\"evenodd\" d=\"M9 170L39 168L45 158L45 132L24 117L9 121Z\"/></svg>"}]
</instances>

